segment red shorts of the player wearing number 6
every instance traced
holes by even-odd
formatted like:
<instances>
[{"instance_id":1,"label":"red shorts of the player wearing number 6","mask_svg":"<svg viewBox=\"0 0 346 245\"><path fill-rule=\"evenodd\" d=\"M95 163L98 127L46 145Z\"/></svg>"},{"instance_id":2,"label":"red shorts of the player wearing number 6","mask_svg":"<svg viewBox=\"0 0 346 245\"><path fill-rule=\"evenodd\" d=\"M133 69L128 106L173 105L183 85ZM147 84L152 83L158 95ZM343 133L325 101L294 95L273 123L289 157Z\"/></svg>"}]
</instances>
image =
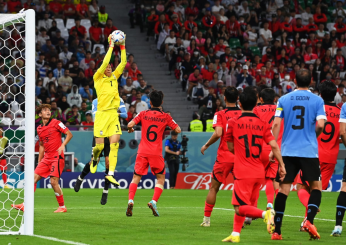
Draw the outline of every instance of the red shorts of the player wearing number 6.
<instances>
[{"instance_id":1,"label":"red shorts of the player wearing number 6","mask_svg":"<svg viewBox=\"0 0 346 245\"><path fill-rule=\"evenodd\" d=\"M134 173L137 175L147 175L149 165L154 175L166 173L163 157L149 154L137 154Z\"/></svg>"}]
</instances>

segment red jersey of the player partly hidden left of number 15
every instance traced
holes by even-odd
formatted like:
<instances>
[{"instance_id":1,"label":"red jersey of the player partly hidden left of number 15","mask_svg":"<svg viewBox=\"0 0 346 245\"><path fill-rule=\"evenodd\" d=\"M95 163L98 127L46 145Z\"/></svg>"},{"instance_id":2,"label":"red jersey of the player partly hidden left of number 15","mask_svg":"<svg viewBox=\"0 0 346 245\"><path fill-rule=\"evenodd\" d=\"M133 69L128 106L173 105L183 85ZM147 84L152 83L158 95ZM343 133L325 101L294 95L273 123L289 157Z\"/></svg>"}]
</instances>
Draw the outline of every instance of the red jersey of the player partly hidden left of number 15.
<instances>
[{"instance_id":1,"label":"red jersey of the player partly hidden left of number 15","mask_svg":"<svg viewBox=\"0 0 346 245\"><path fill-rule=\"evenodd\" d=\"M241 115L241 110L238 107L227 107L222 111L218 111L214 115L213 128L222 127L222 135L219 148L217 149L217 162L234 163L234 155L228 150L227 142L225 141L227 121L233 117Z\"/></svg>"}]
</instances>

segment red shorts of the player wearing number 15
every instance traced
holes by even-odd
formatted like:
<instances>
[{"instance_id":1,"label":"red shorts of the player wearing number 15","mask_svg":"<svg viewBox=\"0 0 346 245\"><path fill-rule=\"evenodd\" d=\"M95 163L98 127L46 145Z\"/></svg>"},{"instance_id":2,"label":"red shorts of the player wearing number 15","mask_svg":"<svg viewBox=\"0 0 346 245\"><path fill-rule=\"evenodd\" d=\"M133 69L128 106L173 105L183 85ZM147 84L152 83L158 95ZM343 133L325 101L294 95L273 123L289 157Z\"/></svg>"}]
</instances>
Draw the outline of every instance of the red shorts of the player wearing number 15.
<instances>
[{"instance_id":1,"label":"red shorts of the player wearing number 15","mask_svg":"<svg viewBox=\"0 0 346 245\"><path fill-rule=\"evenodd\" d=\"M262 184L262 178L234 180L232 205L251 205L257 207L257 200Z\"/></svg>"}]
</instances>

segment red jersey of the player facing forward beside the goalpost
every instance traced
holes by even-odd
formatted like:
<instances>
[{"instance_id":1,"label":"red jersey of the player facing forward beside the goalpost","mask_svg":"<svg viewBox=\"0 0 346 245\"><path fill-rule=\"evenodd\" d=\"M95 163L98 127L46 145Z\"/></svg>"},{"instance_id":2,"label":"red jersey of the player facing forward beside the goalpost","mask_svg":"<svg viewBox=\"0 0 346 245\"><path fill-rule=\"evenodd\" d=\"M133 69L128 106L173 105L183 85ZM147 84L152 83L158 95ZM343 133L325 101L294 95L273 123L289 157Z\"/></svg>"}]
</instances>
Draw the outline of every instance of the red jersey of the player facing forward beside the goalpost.
<instances>
[{"instance_id":1,"label":"red jersey of the player facing forward beside the goalpost","mask_svg":"<svg viewBox=\"0 0 346 245\"><path fill-rule=\"evenodd\" d=\"M37 135L43 143L45 156L56 154L61 146L61 133L66 134L67 131L68 128L56 119L50 119L46 125L37 127Z\"/></svg>"}]
</instances>

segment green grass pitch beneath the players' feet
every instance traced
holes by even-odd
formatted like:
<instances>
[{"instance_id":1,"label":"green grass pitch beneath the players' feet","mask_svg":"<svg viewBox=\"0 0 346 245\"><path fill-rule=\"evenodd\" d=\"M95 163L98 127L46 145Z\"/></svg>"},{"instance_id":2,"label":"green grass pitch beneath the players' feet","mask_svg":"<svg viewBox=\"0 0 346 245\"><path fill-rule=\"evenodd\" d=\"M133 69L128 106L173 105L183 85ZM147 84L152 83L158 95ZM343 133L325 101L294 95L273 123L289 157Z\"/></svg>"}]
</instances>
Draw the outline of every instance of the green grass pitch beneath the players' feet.
<instances>
[{"instance_id":1,"label":"green grass pitch beneath the players' feet","mask_svg":"<svg viewBox=\"0 0 346 245\"><path fill-rule=\"evenodd\" d=\"M203 219L205 190L164 190L158 203L160 217L147 208L153 190L138 190L134 215L126 217L128 190L110 190L108 203L100 205L102 190L81 189L75 193L64 190L67 213L55 214L56 199L51 189L35 193L35 234L86 244L220 244L232 231L234 212L231 192L220 191L211 216L211 227L200 227ZM319 219L335 219L338 193L323 193ZM3 201L4 195L0 196ZM261 192L259 207L265 208L265 193ZM287 215L304 215L295 192L286 205ZM321 240L309 241L308 234L298 232L302 218L284 217L283 241L271 241L262 220L253 221L242 230L242 244L345 244L343 237L330 237L333 221L316 220ZM0 236L0 244L62 244L37 237Z\"/></svg>"}]
</instances>

